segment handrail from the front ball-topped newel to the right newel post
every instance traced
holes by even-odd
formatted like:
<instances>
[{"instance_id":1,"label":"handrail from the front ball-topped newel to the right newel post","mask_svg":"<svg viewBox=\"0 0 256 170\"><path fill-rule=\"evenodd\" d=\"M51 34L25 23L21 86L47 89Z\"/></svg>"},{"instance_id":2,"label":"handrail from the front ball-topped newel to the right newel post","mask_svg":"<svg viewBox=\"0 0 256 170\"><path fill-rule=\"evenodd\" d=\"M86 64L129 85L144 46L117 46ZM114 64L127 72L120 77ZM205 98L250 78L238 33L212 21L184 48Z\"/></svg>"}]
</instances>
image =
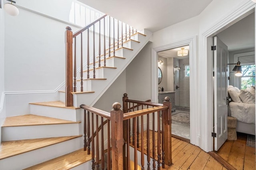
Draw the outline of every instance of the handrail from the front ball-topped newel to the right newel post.
<instances>
[{"instance_id":1,"label":"handrail from the front ball-topped newel to the right newel post","mask_svg":"<svg viewBox=\"0 0 256 170\"><path fill-rule=\"evenodd\" d=\"M138 117L138 116L142 116L142 115L146 115L148 113L162 111L162 110L165 110L165 109L168 109L168 106L158 106L158 107L152 107L152 108L138 110L138 111L132 111L132 112L129 112L129 113L124 113L124 120L131 119L131 118Z\"/></svg>"}]
</instances>

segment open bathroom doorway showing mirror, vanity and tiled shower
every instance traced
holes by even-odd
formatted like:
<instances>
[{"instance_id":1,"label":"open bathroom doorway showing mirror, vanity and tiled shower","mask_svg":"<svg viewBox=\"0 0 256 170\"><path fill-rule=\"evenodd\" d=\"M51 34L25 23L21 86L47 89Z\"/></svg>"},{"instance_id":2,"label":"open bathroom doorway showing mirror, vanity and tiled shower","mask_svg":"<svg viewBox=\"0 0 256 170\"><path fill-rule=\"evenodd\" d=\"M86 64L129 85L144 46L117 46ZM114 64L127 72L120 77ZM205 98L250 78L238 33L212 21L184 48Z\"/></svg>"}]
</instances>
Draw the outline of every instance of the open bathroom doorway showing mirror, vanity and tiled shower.
<instances>
[{"instance_id":1,"label":"open bathroom doorway showing mirror, vanity and tiled shower","mask_svg":"<svg viewBox=\"0 0 256 170\"><path fill-rule=\"evenodd\" d=\"M158 68L158 102L167 95L173 104L172 135L190 140L189 45L158 52Z\"/></svg>"}]
</instances>

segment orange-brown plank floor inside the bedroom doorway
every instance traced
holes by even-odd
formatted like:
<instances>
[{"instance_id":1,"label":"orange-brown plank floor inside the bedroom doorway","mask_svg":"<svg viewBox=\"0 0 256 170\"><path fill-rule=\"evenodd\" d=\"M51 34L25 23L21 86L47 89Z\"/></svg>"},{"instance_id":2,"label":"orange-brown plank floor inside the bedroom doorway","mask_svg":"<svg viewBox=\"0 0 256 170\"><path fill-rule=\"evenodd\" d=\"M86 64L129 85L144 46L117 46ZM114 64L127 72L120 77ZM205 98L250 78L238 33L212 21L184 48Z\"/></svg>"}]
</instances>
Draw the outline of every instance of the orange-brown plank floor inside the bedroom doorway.
<instances>
[{"instance_id":1,"label":"orange-brown plank floor inside the bedroom doorway","mask_svg":"<svg viewBox=\"0 0 256 170\"><path fill-rule=\"evenodd\" d=\"M217 154L237 170L256 170L255 148L246 146L246 140L247 134L237 133L237 140L227 140Z\"/></svg>"}]
</instances>

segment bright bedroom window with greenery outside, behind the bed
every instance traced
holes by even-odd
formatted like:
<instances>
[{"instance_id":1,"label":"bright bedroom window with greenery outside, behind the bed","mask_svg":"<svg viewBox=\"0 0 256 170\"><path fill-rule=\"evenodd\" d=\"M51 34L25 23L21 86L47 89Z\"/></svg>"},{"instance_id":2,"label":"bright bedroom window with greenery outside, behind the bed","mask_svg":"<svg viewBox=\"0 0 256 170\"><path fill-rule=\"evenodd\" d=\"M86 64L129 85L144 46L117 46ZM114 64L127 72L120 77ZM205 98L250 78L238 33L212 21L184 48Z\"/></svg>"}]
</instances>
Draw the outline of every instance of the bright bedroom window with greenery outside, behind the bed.
<instances>
[{"instance_id":1,"label":"bright bedroom window with greenery outside, behind the bed","mask_svg":"<svg viewBox=\"0 0 256 170\"><path fill-rule=\"evenodd\" d=\"M242 66L241 89L255 86L255 64Z\"/></svg>"}]
</instances>

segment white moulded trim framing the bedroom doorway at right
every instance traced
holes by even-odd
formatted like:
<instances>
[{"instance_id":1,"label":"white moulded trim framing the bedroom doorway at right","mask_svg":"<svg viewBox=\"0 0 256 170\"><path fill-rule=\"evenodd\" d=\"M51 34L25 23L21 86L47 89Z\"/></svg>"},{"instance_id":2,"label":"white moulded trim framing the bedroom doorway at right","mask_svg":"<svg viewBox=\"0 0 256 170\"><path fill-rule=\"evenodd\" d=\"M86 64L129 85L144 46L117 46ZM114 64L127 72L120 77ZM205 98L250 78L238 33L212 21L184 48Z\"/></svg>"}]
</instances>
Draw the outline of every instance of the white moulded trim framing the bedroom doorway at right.
<instances>
[{"instance_id":1,"label":"white moulded trim framing the bedroom doorway at right","mask_svg":"<svg viewBox=\"0 0 256 170\"><path fill-rule=\"evenodd\" d=\"M200 67L198 68L198 76L201 82L197 88L200 88L200 109L202 115L202 145L200 146L204 151L209 152L213 150L211 132L213 129L213 95L212 95L212 56L209 52L210 41L209 38L216 35L216 32L224 30L226 27L235 23L240 17L248 14L254 10L255 4L252 1L241 2L237 8L234 8L225 18L220 18L217 23L214 23L209 29L202 34L202 48L200 55ZM211 87L211 88L210 88Z\"/></svg>"}]
</instances>

